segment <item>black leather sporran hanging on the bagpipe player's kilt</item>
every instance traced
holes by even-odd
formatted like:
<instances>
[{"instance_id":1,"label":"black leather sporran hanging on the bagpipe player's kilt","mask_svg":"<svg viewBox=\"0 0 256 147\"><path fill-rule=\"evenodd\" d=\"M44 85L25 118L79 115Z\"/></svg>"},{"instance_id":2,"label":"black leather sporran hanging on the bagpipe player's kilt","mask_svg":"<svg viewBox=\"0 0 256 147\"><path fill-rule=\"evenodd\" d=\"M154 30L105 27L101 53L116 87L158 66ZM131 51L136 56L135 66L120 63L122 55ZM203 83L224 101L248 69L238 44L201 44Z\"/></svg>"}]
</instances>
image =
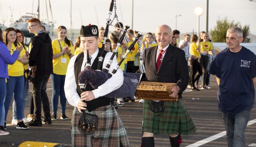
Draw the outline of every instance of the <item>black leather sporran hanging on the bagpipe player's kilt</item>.
<instances>
[{"instance_id":1,"label":"black leather sporran hanging on the bagpipe player's kilt","mask_svg":"<svg viewBox=\"0 0 256 147\"><path fill-rule=\"evenodd\" d=\"M82 112L78 121L78 130L86 135L93 134L97 130L98 116Z\"/></svg>"}]
</instances>

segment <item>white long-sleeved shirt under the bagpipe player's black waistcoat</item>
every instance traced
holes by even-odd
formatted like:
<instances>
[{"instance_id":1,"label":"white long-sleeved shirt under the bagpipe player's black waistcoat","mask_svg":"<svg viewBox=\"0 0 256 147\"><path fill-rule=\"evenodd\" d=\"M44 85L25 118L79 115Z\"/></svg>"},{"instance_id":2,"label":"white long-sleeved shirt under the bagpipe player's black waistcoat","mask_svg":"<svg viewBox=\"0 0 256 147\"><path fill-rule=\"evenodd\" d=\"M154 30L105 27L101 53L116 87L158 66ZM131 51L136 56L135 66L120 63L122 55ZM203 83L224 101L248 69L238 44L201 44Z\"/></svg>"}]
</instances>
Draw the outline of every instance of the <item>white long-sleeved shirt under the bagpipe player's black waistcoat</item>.
<instances>
[{"instance_id":1,"label":"white long-sleeved shirt under the bagpipe player's black waistcoat","mask_svg":"<svg viewBox=\"0 0 256 147\"><path fill-rule=\"evenodd\" d=\"M99 50L91 55L91 64L93 64L93 61L98 55ZM81 53L82 54L82 53ZM85 54L85 53L84 53ZM107 62L111 58L112 53L107 53L103 62L103 67L106 66ZM74 63L76 61L77 55L73 56L68 65L66 77L65 77L65 96L68 100L69 104L76 107L78 101L81 100L80 96L77 94L77 84L75 80L75 73L74 73ZM84 56L84 60L82 62L81 71L84 70L85 62L87 61L86 54ZM110 72L114 69L114 67L118 64L116 57L114 57L112 65L110 66ZM119 68L116 74L114 74L110 79L108 79L104 84L98 87L98 89L92 90L94 97L102 97L106 94L111 93L112 91L118 89L123 84L123 72Z\"/></svg>"}]
</instances>

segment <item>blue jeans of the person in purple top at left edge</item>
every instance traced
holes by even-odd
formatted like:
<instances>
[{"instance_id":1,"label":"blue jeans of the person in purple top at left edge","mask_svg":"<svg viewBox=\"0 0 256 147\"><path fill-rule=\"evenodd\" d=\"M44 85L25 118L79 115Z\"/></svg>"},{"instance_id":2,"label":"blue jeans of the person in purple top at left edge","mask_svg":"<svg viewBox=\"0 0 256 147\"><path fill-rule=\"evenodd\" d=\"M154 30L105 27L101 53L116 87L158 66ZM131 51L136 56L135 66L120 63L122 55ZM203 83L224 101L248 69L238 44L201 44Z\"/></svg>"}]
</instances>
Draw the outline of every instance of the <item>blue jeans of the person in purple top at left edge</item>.
<instances>
[{"instance_id":1,"label":"blue jeans of the person in purple top at left edge","mask_svg":"<svg viewBox=\"0 0 256 147\"><path fill-rule=\"evenodd\" d=\"M0 126L4 126L4 97L6 94L5 78L0 77Z\"/></svg>"}]
</instances>

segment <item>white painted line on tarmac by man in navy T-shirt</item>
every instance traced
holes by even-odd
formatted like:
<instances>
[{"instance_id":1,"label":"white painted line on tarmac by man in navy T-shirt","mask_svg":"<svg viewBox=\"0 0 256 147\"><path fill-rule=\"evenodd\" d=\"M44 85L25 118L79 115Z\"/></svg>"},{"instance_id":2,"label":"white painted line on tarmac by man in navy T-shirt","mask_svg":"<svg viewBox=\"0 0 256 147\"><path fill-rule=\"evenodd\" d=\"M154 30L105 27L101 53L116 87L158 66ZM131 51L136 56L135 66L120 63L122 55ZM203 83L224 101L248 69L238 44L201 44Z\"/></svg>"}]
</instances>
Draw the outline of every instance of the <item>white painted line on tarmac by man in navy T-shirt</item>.
<instances>
[{"instance_id":1,"label":"white painted line on tarmac by man in navy T-shirt","mask_svg":"<svg viewBox=\"0 0 256 147\"><path fill-rule=\"evenodd\" d=\"M248 121L247 126L252 125L254 123L256 123L256 119ZM209 142L211 142L211 141L213 141L215 139L219 139L220 137L223 137L225 135L226 135L226 131L223 131L223 132L221 132L219 134L216 134L216 135L213 135L213 136L208 137L206 139L200 140L200 141L198 141L196 143L193 143L191 145L188 145L186 147L199 147L199 146L201 146L201 145L203 145L205 143L209 143ZM254 145L254 143L252 145ZM255 146L251 146L251 147L256 147L256 144L255 144Z\"/></svg>"}]
</instances>

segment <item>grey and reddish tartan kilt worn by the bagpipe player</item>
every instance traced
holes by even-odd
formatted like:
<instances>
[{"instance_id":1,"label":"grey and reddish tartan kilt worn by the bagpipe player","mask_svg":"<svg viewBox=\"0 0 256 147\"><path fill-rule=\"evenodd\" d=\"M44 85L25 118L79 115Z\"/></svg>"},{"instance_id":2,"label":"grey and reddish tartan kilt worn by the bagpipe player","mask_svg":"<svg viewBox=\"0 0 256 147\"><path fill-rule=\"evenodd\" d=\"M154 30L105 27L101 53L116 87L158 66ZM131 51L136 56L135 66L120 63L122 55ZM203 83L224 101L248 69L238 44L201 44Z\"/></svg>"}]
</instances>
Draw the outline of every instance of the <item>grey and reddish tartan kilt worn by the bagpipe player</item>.
<instances>
[{"instance_id":1,"label":"grey and reddish tartan kilt worn by the bagpipe player","mask_svg":"<svg viewBox=\"0 0 256 147\"><path fill-rule=\"evenodd\" d=\"M72 147L130 147L126 129L112 105L103 106L86 113L98 115L96 132L90 135L82 134L78 128L80 112L74 108L72 116Z\"/></svg>"}]
</instances>

